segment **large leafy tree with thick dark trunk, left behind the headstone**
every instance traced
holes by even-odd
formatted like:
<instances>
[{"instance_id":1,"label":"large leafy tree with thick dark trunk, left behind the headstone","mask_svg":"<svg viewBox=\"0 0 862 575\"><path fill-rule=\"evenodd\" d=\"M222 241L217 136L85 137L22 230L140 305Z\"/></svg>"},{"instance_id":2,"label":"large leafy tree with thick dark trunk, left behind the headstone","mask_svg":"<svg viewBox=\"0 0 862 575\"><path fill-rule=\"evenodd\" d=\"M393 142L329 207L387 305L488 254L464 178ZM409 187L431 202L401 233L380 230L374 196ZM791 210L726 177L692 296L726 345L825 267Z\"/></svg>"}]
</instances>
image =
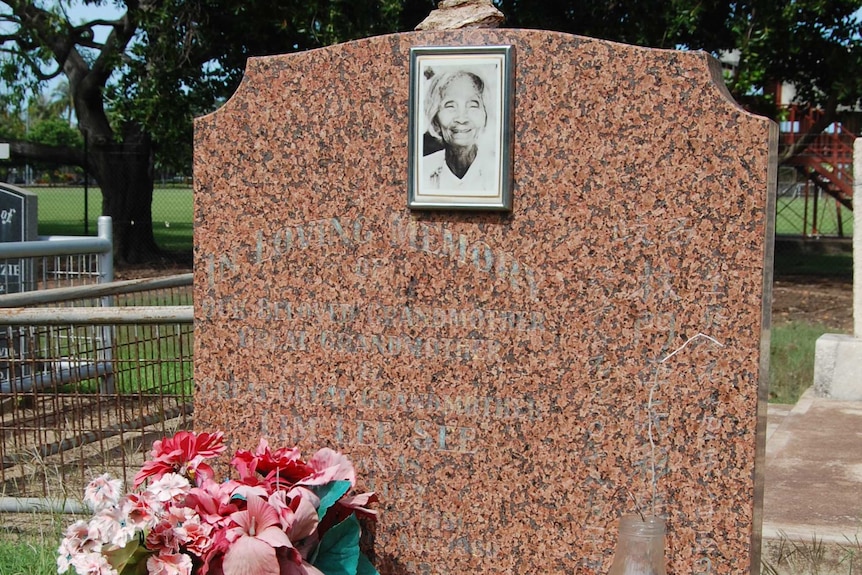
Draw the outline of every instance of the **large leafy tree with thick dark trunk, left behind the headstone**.
<instances>
[{"instance_id":1,"label":"large leafy tree with thick dark trunk, left behind the headstone","mask_svg":"<svg viewBox=\"0 0 862 575\"><path fill-rule=\"evenodd\" d=\"M87 0L101 4L102 0ZM249 56L304 50L391 31L400 2L119 0L114 20L73 24L68 0L0 2L0 78L8 93L65 76L88 169L114 220L115 255L138 262L164 254L152 232L153 165L191 157L191 120L224 101ZM96 28L110 30L97 41ZM68 148L12 143L34 160L68 160Z\"/></svg>"}]
</instances>

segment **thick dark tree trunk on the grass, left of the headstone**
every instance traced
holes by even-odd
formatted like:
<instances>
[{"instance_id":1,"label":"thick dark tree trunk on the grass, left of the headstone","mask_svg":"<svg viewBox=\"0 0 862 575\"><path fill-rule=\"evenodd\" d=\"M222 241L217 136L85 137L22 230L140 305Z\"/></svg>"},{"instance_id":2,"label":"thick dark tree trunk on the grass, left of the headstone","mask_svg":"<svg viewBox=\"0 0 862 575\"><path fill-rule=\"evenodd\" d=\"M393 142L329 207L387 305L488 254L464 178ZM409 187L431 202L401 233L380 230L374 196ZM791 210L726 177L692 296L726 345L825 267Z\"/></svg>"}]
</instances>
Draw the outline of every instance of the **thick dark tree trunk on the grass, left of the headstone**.
<instances>
[{"instance_id":1,"label":"thick dark tree trunk on the grass, left of the headstone","mask_svg":"<svg viewBox=\"0 0 862 575\"><path fill-rule=\"evenodd\" d=\"M136 264L161 257L153 236L153 148L140 129L123 143L90 146L89 171L102 187L102 214L114 225L114 258Z\"/></svg>"}]
</instances>

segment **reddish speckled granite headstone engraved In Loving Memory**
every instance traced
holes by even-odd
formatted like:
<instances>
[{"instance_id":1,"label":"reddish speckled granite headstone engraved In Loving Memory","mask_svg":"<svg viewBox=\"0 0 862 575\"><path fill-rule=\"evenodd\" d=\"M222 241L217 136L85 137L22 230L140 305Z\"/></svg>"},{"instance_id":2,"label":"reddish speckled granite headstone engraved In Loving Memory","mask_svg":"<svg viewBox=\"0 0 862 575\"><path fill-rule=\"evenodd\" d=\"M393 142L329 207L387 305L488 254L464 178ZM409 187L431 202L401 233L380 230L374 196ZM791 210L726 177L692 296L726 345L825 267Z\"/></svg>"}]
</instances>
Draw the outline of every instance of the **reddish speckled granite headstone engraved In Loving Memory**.
<instances>
[{"instance_id":1,"label":"reddish speckled granite headstone engraved In Loving Memory","mask_svg":"<svg viewBox=\"0 0 862 575\"><path fill-rule=\"evenodd\" d=\"M509 45L511 213L411 211L410 48ZM606 572L634 500L670 572L757 572L777 132L715 61L383 36L195 130L195 425L347 454L381 573Z\"/></svg>"}]
</instances>

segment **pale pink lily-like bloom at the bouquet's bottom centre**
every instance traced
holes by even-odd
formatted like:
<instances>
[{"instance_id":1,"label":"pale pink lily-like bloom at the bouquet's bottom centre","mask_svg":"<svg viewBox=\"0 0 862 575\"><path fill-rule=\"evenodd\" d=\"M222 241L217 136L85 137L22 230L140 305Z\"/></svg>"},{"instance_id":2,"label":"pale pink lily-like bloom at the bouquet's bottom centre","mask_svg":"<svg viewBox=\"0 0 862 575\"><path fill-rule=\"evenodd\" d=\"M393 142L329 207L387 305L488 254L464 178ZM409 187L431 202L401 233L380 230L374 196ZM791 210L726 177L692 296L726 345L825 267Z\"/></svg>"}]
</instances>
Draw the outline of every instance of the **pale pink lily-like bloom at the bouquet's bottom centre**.
<instances>
[{"instance_id":1,"label":"pale pink lily-like bloom at the bouquet's bottom centre","mask_svg":"<svg viewBox=\"0 0 862 575\"><path fill-rule=\"evenodd\" d=\"M275 549L292 546L275 509L260 497L252 497L248 508L232 514L231 520L236 527L228 531L232 543L224 556L224 575L279 575Z\"/></svg>"}]
</instances>

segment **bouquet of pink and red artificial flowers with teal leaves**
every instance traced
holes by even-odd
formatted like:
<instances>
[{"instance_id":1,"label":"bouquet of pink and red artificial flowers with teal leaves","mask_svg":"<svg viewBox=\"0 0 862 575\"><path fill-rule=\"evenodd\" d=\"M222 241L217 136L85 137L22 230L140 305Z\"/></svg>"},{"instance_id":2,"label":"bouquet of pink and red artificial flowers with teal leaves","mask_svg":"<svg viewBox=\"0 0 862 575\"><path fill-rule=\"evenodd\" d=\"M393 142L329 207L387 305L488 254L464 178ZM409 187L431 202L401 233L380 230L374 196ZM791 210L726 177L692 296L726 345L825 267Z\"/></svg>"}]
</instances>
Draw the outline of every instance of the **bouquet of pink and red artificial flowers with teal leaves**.
<instances>
[{"instance_id":1,"label":"bouquet of pink and red artificial flowers with teal leaves","mask_svg":"<svg viewBox=\"0 0 862 575\"><path fill-rule=\"evenodd\" d=\"M231 460L239 479L216 482L206 463L222 433L181 431L153 444L134 491L108 475L84 493L90 521L60 543L57 572L79 575L376 575L359 550L357 516L373 493L351 495L353 464L321 449L254 452Z\"/></svg>"}]
</instances>

